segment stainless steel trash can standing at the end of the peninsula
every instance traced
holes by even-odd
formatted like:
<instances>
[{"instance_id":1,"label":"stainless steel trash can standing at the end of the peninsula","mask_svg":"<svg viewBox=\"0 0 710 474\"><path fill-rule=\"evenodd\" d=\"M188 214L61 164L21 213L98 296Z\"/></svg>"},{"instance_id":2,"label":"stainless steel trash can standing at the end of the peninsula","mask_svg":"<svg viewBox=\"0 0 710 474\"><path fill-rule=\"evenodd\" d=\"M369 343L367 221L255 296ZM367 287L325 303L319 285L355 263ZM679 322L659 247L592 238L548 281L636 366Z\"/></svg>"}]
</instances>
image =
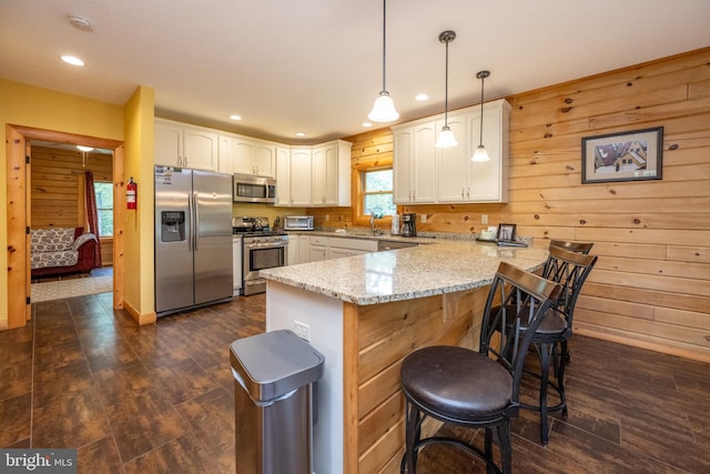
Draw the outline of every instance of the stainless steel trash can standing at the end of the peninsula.
<instances>
[{"instance_id":1,"label":"stainless steel trash can standing at the end of the peninsula","mask_svg":"<svg viewBox=\"0 0 710 474\"><path fill-rule=\"evenodd\" d=\"M325 357L287 330L234 341L237 474L313 472L313 383Z\"/></svg>"}]
</instances>

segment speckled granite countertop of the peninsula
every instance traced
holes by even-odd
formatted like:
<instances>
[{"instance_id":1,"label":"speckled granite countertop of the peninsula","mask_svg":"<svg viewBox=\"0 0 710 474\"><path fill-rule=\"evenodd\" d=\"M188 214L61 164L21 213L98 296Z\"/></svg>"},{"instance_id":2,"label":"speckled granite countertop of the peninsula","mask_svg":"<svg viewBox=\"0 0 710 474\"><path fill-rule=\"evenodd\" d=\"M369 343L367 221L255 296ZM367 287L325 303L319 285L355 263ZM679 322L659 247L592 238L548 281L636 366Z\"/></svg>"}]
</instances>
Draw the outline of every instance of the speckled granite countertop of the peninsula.
<instances>
[{"instance_id":1,"label":"speckled granite countertop of the peninsula","mask_svg":"<svg viewBox=\"0 0 710 474\"><path fill-rule=\"evenodd\" d=\"M313 232L308 232L314 234ZM318 232L328 236L356 234ZM320 262L262 270L274 282L359 305L413 300L490 284L500 261L527 271L547 259L546 249L499 248L475 240L369 236L426 243Z\"/></svg>"}]
</instances>

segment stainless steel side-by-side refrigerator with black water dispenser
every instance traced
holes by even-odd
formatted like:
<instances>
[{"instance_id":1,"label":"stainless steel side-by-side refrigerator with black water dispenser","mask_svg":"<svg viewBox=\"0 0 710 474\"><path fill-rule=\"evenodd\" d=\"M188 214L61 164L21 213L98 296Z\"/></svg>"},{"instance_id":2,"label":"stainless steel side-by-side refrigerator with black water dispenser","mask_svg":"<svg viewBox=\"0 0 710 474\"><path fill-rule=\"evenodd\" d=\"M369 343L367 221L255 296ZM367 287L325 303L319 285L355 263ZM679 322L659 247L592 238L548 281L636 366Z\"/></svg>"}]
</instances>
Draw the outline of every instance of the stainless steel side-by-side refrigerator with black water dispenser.
<instances>
[{"instance_id":1,"label":"stainless steel side-by-side refrigerator with black water dispenser","mask_svg":"<svg viewBox=\"0 0 710 474\"><path fill-rule=\"evenodd\" d=\"M155 167L155 313L233 294L232 175Z\"/></svg>"}]
</instances>

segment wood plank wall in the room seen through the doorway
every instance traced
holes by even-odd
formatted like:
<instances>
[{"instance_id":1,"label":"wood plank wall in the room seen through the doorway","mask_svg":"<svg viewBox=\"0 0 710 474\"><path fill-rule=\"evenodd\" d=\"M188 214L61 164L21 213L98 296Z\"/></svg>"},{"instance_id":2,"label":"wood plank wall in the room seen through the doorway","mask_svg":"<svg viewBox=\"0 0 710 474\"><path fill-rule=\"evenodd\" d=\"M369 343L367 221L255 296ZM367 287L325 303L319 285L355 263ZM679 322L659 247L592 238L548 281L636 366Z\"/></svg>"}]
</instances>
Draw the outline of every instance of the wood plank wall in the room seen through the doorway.
<instances>
[{"instance_id":1,"label":"wood plank wall in the room seen through the doorway","mask_svg":"<svg viewBox=\"0 0 710 474\"><path fill-rule=\"evenodd\" d=\"M80 216L84 199L83 175L92 171L94 181L113 182L113 157L47 147L32 147L31 225L32 229L84 225ZM101 262L113 264L113 239L101 239Z\"/></svg>"}]
</instances>

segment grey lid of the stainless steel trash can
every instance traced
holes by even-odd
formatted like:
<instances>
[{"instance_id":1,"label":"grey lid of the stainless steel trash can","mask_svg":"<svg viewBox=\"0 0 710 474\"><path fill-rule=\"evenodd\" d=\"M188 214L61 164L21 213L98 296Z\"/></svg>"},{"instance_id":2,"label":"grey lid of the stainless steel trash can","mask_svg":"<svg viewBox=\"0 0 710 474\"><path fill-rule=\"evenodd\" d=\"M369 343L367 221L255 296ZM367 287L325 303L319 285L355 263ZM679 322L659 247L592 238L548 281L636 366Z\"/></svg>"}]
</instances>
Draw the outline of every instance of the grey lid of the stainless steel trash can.
<instances>
[{"instance_id":1,"label":"grey lid of the stainless steel trash can","mask_svg":"<svg viewBox=\"0 0 710 474\"><path fill-rule=\"evenodd\" d=\"M255 402L268 402L323 376L325 357L288 330L234 341L232 369Z\"/></svg>"}]
</instances>

